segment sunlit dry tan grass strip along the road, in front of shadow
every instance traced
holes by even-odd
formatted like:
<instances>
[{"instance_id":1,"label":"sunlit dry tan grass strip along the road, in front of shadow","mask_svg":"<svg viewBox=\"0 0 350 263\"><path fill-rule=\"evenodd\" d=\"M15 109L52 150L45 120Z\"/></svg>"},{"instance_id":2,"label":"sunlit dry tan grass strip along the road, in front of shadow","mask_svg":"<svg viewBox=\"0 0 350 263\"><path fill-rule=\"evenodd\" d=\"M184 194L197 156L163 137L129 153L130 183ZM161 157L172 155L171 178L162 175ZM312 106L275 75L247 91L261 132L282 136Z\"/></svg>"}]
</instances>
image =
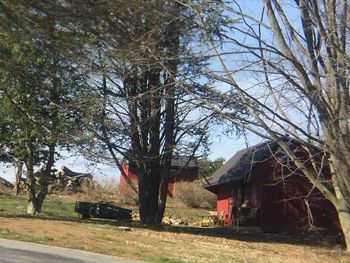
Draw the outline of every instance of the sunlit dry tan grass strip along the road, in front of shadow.
<instances>
[{"instance_id":1,"label":"sunlit dry tan grass strip along the road, in front of shadow","mask_svg":"<svg viewBox=\"0 0 350 263\"><path fill-rule=\"evenodd\" d=\"M111 221L87 223L0 218L0 236L147 262L345 263L350 260L339 248L291 245L273 240L237 240L244 239L244 236L237 236L237 239L234 235L232 238L215 237L204 232L181 233L179 228L148 229L137 224L131 225L132 230L126 232L118 226L118 222Z\"/></svg>"}]
</instances>

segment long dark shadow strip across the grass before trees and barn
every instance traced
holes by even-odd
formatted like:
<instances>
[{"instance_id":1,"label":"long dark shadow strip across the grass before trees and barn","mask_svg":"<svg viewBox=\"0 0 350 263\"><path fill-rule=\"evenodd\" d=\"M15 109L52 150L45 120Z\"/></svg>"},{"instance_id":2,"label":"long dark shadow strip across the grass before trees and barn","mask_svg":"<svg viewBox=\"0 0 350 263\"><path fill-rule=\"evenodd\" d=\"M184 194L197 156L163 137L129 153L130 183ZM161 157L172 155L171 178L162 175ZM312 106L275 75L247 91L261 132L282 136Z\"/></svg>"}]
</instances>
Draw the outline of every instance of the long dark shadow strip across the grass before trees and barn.
<instances>
[{"instance_id":1,"label":"long dark shadow strip across the grass before trees and barn","mask_svg":"<svg viewBox=\"0 0 350 263\"><path fill-rule=\"evenodd\" d=\"M291 245L307 245L324 248L345 247L342 235L332 232L312 231L303 234L290 233L261 233L246 228L237 230L234 228L202 228L189 226L164 226L164 225L142 225L138 222L126 222L110 219L81 219L78 216L53 216L53 215L28 215L28 214L12 214L2 211L0 218L24 218L24 219L39 219L49 221L62 221L71 223L84 223L92 225L108 225L108 226L123 226L138 229L148 229L157 232L185 233L208 237L221 237L230 240L238 240L245 242L261 242L261 243L281 243Z\"/></svg>"}]
</instances>

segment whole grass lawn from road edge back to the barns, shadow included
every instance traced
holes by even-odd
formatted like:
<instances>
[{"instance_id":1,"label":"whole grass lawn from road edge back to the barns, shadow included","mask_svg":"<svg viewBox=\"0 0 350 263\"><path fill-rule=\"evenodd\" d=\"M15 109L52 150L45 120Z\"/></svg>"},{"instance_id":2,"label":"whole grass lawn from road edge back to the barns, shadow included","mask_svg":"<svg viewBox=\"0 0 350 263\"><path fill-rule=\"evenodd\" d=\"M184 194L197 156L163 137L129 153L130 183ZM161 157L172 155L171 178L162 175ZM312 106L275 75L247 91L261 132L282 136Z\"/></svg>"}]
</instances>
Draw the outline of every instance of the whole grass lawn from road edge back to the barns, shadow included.
<instances>
[{"instance_id":1,"label":"whole grass lawn from road edge back to the barns, shadow included","mask_svg":"<svg viewBox=\"0 0 350 263\"><path fill-rule=\"evenodd\" d=\"M327 240L222 228L145 227L137 222L82 220L73 211L75 198L81 197L51 196L41 215L29 216L25 214L25 197L0 196L0 237L146 262L350 262L334 237ZM187 209L169 199L167 214L199 222L207 211ZM130 226L131 231L119 226Z\"/></svg>"}]
</instances>

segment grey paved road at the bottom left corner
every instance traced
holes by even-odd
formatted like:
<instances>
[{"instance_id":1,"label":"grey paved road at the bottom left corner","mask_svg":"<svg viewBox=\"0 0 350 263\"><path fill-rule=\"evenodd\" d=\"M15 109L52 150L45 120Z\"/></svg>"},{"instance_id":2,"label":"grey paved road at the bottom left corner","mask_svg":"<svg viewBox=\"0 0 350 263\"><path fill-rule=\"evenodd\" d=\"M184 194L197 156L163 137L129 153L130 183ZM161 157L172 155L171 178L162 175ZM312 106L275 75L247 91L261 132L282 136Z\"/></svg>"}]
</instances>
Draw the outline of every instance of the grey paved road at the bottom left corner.
<instances>
[{"instance_id":1,"label":"grey paved road at the bottom left corner","mask_svg":"<svg viewBox=\"0 0 350 263\"><path fill-rule=\"evenodd\" d=\"M112 256L0 238L0 263L137 263ZM138 262L141 263L141 262Z\"/></svg>"}]
</instances>

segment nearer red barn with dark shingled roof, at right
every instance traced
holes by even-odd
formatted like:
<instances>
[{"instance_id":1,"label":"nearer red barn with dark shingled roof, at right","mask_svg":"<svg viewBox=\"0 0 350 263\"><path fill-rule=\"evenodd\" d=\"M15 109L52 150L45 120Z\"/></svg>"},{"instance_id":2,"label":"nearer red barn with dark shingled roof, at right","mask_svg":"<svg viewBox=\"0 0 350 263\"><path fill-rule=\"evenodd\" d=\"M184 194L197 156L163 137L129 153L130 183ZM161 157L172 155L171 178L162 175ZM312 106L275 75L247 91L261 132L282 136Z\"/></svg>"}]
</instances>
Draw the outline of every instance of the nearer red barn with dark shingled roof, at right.
<instances>
[{"instance_id":1,"label":"nearer red barn with dark shingled roof, at right","mask_svg":"<svg viewBox=\"0 0 350 263\"><path fill-rule=\"evenodd\" d=\"M334 206L291 166L276 142L264 142L238 151L204 187L217 195L217 214L226 226L257 226L267 232L300 232L310 226L340 230ZM325 174L323 180L329 179Z\"/></svg>"}]
</instances>

